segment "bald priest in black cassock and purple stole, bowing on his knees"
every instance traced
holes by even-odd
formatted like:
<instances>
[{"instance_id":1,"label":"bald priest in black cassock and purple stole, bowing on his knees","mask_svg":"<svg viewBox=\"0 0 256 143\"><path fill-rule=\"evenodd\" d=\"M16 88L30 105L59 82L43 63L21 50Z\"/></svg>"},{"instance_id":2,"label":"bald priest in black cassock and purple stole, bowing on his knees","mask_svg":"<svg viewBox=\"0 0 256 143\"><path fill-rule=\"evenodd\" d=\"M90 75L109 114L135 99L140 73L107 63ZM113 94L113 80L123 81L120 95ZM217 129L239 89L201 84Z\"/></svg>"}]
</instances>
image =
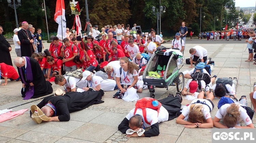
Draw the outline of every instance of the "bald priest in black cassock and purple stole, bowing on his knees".
<instances>
[{"instance_id":1,"label":"bald priest in black cassock and purple stole, bowing on his knees","mask_svg":"<svg viewBox=\"0 0 256 143\"><path fill-rule=\"evenodd\" d=\"M37 60L32 57L16 57L14 64L17 66L22 81L21 94L24 100L38 98L53 92L52 84L45 81Z\"/></svg>"}]
</instances>

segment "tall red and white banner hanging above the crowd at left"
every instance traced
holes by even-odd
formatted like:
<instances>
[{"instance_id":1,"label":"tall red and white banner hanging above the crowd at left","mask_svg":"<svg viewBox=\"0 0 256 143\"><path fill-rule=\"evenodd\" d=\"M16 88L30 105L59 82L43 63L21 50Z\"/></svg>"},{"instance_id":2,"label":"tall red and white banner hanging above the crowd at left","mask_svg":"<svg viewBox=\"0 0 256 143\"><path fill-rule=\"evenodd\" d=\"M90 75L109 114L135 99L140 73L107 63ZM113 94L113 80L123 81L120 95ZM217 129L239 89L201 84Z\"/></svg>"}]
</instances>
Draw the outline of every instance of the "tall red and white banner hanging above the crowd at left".
<instances>
[{"instance_id":1,"label":"tall red and white banner hanging above the crowd at left","mask_svg":"<svg viewBox=\"0 0 256 143\"><path fill-rule=\"evenodd\" d=\"M62 16L62 19L61 19ZM54 20L59 24L57 37L64 39L66 37L66 18L64 0L57 0ZM63 36L63 37L62 37Z\"/></svg>"}]
</instances>

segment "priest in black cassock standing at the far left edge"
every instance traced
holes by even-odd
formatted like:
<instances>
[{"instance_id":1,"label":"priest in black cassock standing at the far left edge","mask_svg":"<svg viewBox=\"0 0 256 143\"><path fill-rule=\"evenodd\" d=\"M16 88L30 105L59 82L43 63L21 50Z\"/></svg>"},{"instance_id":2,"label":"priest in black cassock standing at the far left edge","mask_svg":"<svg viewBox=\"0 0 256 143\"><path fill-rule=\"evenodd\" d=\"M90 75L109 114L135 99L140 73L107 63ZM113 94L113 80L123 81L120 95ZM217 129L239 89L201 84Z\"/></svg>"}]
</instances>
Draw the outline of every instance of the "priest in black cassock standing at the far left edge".
<instances>
[{"instance_id":1,"label":"priest in black cassock standing at the far left edge","mask_svg":"<svg viewBox=\"0 0 256 143\"><path fill-rule=\"evenodd\" d=\"M12 47L8 41L3 37L3 27L0 26L0 63L12 66L12 59L10 51Z\"/></svg>"}]
</instances>

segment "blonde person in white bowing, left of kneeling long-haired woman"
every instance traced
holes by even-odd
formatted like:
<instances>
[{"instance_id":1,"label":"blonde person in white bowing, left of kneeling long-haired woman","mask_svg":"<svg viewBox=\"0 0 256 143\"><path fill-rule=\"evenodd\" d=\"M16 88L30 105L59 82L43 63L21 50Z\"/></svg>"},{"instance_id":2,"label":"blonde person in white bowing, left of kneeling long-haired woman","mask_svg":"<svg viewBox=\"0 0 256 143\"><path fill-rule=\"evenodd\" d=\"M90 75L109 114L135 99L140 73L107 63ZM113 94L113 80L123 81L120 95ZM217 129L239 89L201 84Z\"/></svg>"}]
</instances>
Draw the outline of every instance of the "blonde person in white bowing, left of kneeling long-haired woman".
<instances>
[{"instance_id":1,"label":"blonde person in white bowing, left of kneeling long-haired woman","mask_svg":"<svg viewBox=\"0 0 256 143\"><path fill-rule=\"evenodd\" d=\"M104 67L104 71L108 74L108 79L116 79L116 73L120 72L120 61L111 61Z\"/></svg>"}]
</instances>

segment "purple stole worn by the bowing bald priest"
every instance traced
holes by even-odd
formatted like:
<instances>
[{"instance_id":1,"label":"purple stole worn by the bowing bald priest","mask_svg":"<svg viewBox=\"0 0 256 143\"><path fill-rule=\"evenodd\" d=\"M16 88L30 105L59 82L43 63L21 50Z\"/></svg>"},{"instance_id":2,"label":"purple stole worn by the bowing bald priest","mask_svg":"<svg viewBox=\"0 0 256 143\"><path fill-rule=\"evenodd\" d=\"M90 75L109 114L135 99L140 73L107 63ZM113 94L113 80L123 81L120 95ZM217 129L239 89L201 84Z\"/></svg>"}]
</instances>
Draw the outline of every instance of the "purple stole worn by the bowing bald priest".
<instances>
[{"instance_id":1,"label":"purple stole worn by the bowing bald priest","mask_svg":"<svg viewBox=\"0 0 256 143\"><path fill-rule=\"evenodd\" d=\"M27 68L25 69L24 73L25 73L27 82L25 82L23 74L22 74L22 68L23 67L19 68L19 72L22 75L21 79L22 79L23 83L26 86L29 86L29 88L28 88L28 90L26 91L26 94L25 94L26 96L23 98L23 100L28 100L34 95L34 86L29 85L31 82L33 82L33 74L32 74L30 59L29 59L29 57L25 57L25 58L26 58L25 60L27 61Z\"/></svg>"}]
</instances>

